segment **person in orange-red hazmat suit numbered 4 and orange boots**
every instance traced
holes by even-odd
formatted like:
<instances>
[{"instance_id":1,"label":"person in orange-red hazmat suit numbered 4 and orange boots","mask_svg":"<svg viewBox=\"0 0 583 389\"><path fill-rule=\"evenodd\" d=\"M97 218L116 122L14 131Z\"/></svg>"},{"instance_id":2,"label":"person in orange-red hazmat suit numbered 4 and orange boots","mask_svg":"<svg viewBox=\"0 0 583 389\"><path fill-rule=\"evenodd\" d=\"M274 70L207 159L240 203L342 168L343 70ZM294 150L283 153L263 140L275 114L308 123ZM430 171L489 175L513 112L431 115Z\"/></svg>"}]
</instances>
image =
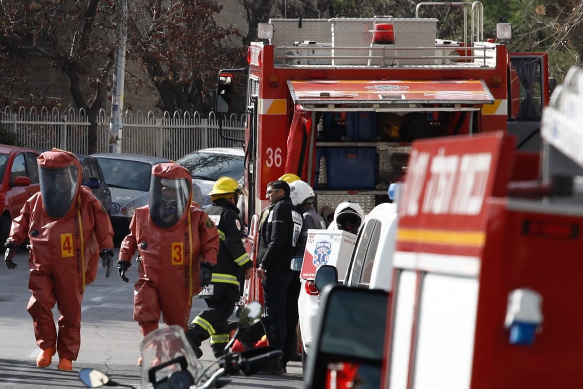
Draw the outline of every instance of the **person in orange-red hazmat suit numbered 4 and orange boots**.
<instances>
[{"instance_id":1,"label":"person in orange-red hazmat suit numbered 4 and orange boots","mask_svg":"<svg viewBox=\"0 0 583 389\"><path fill-rule=\"evenodd\" d=\"M97 274L99 257L111 274L113 229L109 215L89 188L80 186L82 169L72 153L52 149L38 157L40 192L24 204L6 240L6 265L28 237L29 289L27 310L41 352L38 367L59 353L59 370L72 370L79 355L81 302L85 286ZM57 303L59 330L52 308Z\"/></svg>"}]
</instances>

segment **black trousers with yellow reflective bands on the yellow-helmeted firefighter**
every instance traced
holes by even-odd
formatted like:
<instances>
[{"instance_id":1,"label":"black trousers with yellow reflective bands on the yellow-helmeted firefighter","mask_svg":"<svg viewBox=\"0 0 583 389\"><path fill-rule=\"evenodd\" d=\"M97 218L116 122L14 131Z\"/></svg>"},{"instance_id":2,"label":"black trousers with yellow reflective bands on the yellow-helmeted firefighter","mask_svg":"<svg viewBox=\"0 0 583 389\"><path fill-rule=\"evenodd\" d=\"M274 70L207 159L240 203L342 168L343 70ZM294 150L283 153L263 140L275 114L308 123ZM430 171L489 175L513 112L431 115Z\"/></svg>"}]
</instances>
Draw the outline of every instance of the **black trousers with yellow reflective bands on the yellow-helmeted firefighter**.
<instances>
[{"instance_id":1,"label":"black trousers with yellow reflective bands on the yellow-helmeted firefighter","mask_svg":"<svg viewBox=\"0 0 583 389\"><path fill-rule=\"evenodd\" d=\"M196 346L210 338L210 348L215 358L223 355L229 343L229 317L233 314L235 303L223 299L205 299L208 309L203 310L188 326L188 339Z\"/></svg>"}]
</instances>

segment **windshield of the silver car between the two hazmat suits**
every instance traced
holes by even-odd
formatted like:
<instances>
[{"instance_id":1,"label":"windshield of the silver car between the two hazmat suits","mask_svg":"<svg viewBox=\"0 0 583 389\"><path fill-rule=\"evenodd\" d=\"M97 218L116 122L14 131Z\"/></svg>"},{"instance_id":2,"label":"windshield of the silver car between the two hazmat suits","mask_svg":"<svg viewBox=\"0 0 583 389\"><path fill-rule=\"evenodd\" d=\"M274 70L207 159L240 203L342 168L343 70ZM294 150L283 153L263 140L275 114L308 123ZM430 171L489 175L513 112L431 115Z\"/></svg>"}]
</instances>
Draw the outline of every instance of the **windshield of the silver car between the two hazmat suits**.
<instances>
[{"instance_id":1,"label":"windshield of the silver car between the two hazmat suits","mask_svg":"<svg viewBox=\"0 0 583 389\"><path fill-rule=\"evenodd\" d=\"M108 187L142 192L150 189L152 165L149 163L107 157L97 157L97 160Z\"/></svg>"}]
</instances>

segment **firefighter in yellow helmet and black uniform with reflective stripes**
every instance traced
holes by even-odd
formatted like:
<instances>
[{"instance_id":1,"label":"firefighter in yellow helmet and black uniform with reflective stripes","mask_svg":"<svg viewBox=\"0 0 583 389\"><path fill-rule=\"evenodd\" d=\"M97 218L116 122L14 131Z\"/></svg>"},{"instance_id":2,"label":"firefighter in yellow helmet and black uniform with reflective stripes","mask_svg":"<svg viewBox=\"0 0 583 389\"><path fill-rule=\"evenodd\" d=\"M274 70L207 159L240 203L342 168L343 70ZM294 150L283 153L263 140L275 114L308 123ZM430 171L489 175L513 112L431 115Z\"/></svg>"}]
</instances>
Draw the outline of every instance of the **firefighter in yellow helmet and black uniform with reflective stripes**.
<instances>
[{"instance_id":1,"label":"firefighter in yellow helmet and black uniform with reflective stripes","mask_svg":"<svg viewBox=\"0 0 583 389\"><path fill-rule=\"evenodd\" d=\"M219 255L209 288L202 295L208 309L194 318L188 330L195 351L198 352L202 342L210 338L210 348L216 358L223 355L229 343L228 320L239 301L241 276L244 274L245 279L250 279L253 271L243 246L243 226L237 208L240 194L237 181L230 177L220 177L209 193L212 204L206 208L206 213L219 230Z\"/></svg>"}]
</instances>

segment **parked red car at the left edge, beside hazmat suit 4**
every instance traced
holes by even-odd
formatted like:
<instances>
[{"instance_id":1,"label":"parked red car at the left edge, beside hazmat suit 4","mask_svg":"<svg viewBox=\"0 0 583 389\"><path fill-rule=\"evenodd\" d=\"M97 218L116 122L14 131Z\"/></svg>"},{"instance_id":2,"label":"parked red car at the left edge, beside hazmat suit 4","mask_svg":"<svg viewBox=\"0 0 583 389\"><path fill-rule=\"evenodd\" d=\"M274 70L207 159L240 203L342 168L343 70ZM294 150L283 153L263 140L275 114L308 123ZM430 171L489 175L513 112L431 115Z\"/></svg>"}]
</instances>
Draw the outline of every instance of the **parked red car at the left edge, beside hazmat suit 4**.
<instances>
[{"instance_id":1,"label":"parked red car at the left edge, beside hazmat suit 4","mask_svg":"<svg viewBox=\"0 0 583 389\"><path fill-rule=\"evenodd\" d=\"M0 244L4 244L12 219L24 203L40 191L38 184L39 153L17 146L0 145Z\"/></svg>"}]
</instances>

